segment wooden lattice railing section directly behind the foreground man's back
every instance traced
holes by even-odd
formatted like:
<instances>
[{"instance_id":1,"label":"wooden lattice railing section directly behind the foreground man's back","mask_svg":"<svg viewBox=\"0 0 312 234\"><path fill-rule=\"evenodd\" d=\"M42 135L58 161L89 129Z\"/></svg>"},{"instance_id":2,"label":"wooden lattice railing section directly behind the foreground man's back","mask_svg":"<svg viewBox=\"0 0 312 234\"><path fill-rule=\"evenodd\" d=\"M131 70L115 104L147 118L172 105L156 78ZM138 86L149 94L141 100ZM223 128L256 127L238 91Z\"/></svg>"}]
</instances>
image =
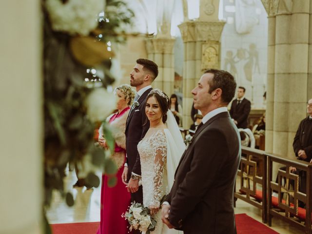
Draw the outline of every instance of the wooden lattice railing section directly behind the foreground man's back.
<instances>
[{"instance_id":1,"label":"wooden lattice railing section directly behind the foreground man's back","mask_svg":"<svg viewBox=\"0 0 312 234\"><path fill-rule=\"evenodd\" d=\"M267 156L262 150L242 146L242 156L237 176L240 186L234 190L237 198L262 210L262 222L267 222Z\"/></svg>"}]
</instances>

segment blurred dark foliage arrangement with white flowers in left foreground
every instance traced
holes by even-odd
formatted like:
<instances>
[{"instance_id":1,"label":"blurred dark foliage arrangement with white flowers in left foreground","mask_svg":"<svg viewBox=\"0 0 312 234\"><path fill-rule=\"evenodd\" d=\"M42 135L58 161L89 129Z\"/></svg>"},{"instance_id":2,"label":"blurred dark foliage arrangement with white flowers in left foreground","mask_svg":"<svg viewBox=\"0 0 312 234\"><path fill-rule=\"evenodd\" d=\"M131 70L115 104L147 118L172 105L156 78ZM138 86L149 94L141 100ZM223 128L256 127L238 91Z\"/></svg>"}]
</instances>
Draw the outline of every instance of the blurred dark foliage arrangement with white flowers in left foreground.
<instances>
[{"instance_id":1,"label":"blurred dark foliage arrangement with white flowers in left foreground","mask_svg":"<svg viewBox=\"0 0 312 234\"><path fill-rule=\"evenodd\" d=\"M90 105L108 93L115 81L110 73L114 54L108 44L125 41L122 27L132 23L134 13L120 0L42 0L42 12L44 205L50 205L52 191L57 190L72 206L73 195L64 191L63 184L68 162L83 165L89 158L103 172L117 172L103 149L94 144L97 124L115 103L102 107L107 115L100 117L92 114ZM105 123L104 134L114 151L111 129ZM92 171L86 175L86 186L98 187L98 176ZM112 178L110 185L114 183Z\"/></svg>"}]
</instances>

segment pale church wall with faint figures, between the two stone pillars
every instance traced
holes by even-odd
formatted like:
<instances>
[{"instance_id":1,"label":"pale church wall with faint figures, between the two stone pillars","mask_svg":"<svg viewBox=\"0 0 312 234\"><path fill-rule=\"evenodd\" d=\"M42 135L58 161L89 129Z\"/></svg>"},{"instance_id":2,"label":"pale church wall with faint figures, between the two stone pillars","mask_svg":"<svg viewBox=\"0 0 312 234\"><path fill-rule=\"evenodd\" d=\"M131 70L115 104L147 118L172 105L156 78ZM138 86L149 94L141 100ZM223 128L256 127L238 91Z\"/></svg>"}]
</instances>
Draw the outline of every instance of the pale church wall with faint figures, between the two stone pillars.
<instances>
[{"instance_id":1,"label":"pale church wall with faint figures, between the two stone pillars","mask_svg":"<svg viewBox=\"0 0 312 234\"><path fill-rule=\"evenodd\" d=\"M223 0L227 21L221 36L221 69L246 88L253 109L265 109L267 89L268 19L261 0Z\"/></svg>"}]
</instances>

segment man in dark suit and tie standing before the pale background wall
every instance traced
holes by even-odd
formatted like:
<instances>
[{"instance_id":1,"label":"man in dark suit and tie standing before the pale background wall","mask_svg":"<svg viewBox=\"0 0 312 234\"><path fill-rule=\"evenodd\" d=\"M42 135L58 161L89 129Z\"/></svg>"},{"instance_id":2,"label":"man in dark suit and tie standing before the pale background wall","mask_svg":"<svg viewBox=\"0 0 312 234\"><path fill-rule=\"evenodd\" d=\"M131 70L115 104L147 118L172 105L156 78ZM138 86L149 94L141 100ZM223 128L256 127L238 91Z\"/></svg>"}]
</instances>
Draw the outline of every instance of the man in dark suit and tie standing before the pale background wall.
<instances>
[{"instance_id":1,"label":"man in dark suit and tie standing before the pale background wall","mask_svg":"<svg viewBox=\"0 0 312 234\"><path fill-rule=\"evenodd\" d=\"M244 98L246 89L238 87L237 99L233 100L230 115L234 119L237 128L248 128L248 116L250 113L251 103Z\"/></svg>"}]
</instances>

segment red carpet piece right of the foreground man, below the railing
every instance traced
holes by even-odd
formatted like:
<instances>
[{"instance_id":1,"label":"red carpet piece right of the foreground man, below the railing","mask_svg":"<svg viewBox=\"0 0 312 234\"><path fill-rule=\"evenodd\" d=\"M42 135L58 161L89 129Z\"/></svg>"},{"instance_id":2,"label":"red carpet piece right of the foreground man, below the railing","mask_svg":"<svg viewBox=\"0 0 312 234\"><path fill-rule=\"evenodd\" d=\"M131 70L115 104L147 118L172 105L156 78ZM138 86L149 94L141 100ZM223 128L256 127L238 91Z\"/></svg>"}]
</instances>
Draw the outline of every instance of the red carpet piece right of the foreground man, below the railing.
<instances>
[{"instance_id":1,"label":"red carpet piece right of the foreground man, below the railing","mask_svg":"<svg viewBox=\"0 0 312 234\"><path fill-rule=\"evenodd\" d=\"M246 214L235 215L237 234L278 234Z\"/></svg>"}]
</instances>

